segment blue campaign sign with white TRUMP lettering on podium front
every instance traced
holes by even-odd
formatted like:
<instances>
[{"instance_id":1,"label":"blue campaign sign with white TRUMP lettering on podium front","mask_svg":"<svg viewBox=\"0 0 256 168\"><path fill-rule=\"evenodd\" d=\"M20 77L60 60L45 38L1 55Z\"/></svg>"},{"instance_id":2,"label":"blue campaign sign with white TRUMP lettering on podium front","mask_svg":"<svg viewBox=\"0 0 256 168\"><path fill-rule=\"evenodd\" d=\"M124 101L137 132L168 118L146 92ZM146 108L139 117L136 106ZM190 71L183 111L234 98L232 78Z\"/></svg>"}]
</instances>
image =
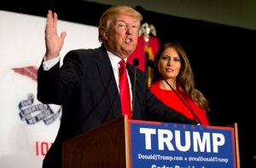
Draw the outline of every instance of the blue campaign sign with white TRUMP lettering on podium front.
<instances>
[{"instance_id":1,"label":"blue campaign sign with white TRUMP lettering on podium front","mask_svg":"<svg viewBox=\"0 0 256 168\"><path fill-rule=\"evenodd\" d=\"M131 168L236 168L234 128L128 122Z\"/></svg>"}]
</instances>

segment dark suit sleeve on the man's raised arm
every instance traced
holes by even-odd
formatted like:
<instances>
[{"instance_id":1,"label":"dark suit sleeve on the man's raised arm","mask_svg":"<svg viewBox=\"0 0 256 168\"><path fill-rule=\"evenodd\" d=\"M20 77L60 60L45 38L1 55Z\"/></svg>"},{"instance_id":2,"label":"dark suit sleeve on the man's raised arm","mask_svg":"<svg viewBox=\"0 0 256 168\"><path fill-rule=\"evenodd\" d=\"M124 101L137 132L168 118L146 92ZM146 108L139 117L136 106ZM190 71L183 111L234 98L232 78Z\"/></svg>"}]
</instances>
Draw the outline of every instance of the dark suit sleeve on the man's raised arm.
<instances>
[{"instance_id":1,"label":"dark suit sleeve on the man's raised arm","mask_svg":"<svg viewBox=\"0 0 256 168\"><path fill-rule=\"evenodd\" d=\"M45 104L61 105L79 87L82 74L82 65L79 55L69 51L64 57L63 65L60 61L44 71L43 61L38 68L38 101Z\"/></svg>"}]
</instances>

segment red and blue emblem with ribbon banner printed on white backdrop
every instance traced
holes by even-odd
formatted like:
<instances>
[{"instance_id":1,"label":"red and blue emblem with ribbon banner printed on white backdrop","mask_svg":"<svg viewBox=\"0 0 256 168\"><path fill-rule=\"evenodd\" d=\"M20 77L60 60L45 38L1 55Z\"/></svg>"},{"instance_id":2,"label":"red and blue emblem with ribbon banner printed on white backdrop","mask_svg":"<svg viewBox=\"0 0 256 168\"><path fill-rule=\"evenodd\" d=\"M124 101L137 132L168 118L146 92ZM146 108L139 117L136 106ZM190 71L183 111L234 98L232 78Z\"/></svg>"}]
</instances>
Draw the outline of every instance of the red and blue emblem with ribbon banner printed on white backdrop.
<instances>
[{"instance_id":1,"label":"red and blue emblem with ribbon banner printed on white backdrop","mask_svg":"<svg viewBox=\"0 0 256 168\"><path fill-rule=\"evenodd\" d=\"M12 68L15 72L25 75L32 80L37 80L37 68L36 67L20 67ZM26 100L22 100L19 103L20 119L26 121L28 125L34 125L43 120L45 125L52 124L55 119L61 113L61 107L54 113L53 109L48 104L34 104L35 96L28 94Z\"/></svg>"}]
</instances>

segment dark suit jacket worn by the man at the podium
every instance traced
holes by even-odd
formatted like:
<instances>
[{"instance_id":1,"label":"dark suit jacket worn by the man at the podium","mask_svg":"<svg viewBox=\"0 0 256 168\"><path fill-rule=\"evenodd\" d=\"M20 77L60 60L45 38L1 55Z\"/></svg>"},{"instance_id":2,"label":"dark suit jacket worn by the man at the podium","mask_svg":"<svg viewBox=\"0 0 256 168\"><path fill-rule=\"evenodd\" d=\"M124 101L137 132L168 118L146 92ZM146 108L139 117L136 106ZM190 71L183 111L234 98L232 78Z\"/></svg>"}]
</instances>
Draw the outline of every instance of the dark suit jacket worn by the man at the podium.
<instances>
[{"instance_id":1,"label":"dark suit jacket worn by the man at the podium","mask_svg":"<svg viewBox=\"0 0 256 168\"><path fill-rule=\"evenodd\" d=\"M133 90L135 68L129 63L126 67ZM41 65L38 101L62 105L60 129L43 165L61 167L61 142L122 115L118 86L104 46L69 51L61 68L60 62L49 71L44 71ZM197 124L158 100L148 90L145 75L139 69L134 112L133 118L139 120Z\"/></svg>"}]
</instances>

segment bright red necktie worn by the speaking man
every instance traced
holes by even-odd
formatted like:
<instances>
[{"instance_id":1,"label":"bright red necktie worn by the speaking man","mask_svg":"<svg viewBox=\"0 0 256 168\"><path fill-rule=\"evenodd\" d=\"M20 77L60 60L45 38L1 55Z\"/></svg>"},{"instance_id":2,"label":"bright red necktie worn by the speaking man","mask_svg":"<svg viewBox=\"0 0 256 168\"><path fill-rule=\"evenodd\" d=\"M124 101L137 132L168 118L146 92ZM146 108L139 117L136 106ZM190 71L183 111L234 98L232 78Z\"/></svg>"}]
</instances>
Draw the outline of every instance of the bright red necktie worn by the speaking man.
<instances>
[{"instance_id":1,"label":"bright red necktie worn by the speaking man","mask_svg":"<svg viewBox=\"0 0 256 168\"><path fill-rule=\"evenodd\" d=\"M119 92L121 98L122 115L127 114L128 119L131 119L131 96L126 75L125 61L119 61Z\"/></svg>"}]
</instances>

